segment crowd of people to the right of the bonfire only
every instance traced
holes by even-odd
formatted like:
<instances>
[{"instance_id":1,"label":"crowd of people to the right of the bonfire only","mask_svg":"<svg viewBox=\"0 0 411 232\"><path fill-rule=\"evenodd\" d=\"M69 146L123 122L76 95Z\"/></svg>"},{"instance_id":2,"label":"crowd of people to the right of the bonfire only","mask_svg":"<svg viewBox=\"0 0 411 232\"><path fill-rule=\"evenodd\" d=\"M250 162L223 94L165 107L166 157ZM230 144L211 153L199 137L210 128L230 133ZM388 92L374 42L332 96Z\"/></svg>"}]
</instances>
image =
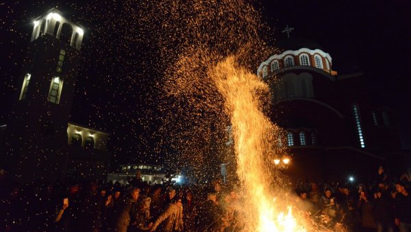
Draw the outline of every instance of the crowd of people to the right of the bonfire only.
<instances>
[{"instance_id":1,"label":"crowd of people to the right of the bonfire only","mask_svg":"<svg viewBox=\"0 0 411 232\"><path fill-rule=\"evenodd\" d=\"M411 231L411 172L392 179L380 166L371 183L303 183L297 206L323 225L345 225L349 231Z\"/></svg>"}]
</instances>

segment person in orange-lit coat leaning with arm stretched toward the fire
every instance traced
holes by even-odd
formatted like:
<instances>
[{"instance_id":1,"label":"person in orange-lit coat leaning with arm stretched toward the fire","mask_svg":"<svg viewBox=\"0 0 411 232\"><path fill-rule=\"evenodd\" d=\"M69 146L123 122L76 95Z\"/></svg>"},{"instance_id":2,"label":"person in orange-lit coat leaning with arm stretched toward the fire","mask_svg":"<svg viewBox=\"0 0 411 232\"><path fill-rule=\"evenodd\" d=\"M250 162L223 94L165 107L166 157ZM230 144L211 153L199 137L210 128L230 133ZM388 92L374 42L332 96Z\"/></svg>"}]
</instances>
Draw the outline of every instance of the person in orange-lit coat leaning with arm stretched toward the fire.
<instances>
[{"instance_id":1,"label":"person in orange-lit coat leaning with arm stretched toward the fire","mask_svg":"<svg viewBox=\"0 0 411 232\"><path fill-rule=\"evenodd\" d=\"M164 222L162 230L164 232L183 231L183 205L182 200L175 197L171 200L170 205L160 216L154 221L151 231L155 231L158 226Z\"/></svg>"}]
</instances>

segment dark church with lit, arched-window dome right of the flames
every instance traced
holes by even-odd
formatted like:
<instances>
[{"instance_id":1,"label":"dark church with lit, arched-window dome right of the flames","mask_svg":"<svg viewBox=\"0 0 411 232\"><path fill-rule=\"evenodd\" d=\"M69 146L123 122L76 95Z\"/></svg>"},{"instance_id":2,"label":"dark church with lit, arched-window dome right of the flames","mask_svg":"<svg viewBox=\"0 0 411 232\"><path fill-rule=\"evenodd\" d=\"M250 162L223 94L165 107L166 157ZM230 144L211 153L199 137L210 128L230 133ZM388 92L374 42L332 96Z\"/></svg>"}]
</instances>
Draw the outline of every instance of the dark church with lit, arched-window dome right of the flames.
<instances>
[{"instance_id":1,"label":"dark church with lit, arched-window dome right of the flames","mask_svg":"<svg viewBox=\"0 0 411 232\"><path fill-rule=\"evenodd\" d=\"M338 75L331 55L309 40L278 46L258 76L271 87L273 122L286 129L278 146L292 154L290 175L322 180L405 168L395 114L371 101L362 72Z\"/></svg>"}]
</instances>

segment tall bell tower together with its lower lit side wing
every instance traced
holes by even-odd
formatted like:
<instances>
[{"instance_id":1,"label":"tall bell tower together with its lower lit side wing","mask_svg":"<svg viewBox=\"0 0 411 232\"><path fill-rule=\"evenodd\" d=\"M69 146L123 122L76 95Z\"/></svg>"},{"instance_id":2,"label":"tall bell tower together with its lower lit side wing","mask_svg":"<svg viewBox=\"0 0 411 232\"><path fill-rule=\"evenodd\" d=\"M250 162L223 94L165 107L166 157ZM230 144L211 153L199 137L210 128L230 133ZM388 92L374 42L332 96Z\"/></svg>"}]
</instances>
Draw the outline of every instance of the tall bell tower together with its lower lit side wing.
<instances>
[{"instance_id":1,"label":"tall bell tower together with its lower lit side wing","mask_svg":"<svg viewBox=\"0 0 411 232\"><path fill-rule=\"evenodd\" d=\"M1 168L9 179L104 179L108 133L69 122L84 29L49 10L36 18L7 125Z\"/></svg>"}]
</instances>

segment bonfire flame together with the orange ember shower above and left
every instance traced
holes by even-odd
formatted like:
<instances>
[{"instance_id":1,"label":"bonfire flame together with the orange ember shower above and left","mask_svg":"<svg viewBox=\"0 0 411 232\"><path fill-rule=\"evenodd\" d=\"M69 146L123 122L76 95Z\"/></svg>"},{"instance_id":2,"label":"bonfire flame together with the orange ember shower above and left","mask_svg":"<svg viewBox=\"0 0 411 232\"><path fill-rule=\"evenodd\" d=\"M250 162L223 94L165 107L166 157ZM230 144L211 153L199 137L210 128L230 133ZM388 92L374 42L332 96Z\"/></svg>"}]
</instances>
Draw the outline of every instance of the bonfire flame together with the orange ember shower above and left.
<instances>
[{"instance_id":1,"label":"bonfire flame together with the orange ember shower above and left","mask_svg":"<svg viewBox=\"0 0 411 232\"><path fill-rule=\"evenodd\" d=\"M167 142L178 153L172 163L210 175L208 166L227 161L225 128L232 125L235 157L229 161L236 163L245 194L243 229L303 231L305 223L288 203L275 201L281 185L270 188L281 182L272 163L281 129L262 112L269 88L252 74L273 52L259 36L266 27L258 12L240 0L139 4L139 26L160 50L158 64L164 67L160 133L171 135Z\"/></svg>"}]
</instances>

